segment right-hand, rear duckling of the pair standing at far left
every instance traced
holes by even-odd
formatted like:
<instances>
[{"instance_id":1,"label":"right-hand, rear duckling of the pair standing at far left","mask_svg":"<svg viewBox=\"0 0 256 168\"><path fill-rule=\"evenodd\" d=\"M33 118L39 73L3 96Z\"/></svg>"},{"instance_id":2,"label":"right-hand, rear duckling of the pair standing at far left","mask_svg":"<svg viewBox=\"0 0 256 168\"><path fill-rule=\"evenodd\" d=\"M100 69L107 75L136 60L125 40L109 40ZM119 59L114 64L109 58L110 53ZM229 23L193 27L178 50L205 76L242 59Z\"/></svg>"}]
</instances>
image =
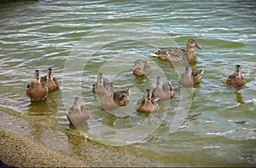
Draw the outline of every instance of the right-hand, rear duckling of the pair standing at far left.
<instances>
[{"instance_id":1,"label":"right-hand, rear duckling of the pair standing at far left","mask_svg":"<svg viewBox=\"0 0 256 168\"><path fill-rule=\"evenodd\" d=\"M54 91L60 89L59 81L53 76L53 70L49 68L47 70L46 76L41 77L41 82L48 87L49 91Z\"/></svg>"}]
</instances>

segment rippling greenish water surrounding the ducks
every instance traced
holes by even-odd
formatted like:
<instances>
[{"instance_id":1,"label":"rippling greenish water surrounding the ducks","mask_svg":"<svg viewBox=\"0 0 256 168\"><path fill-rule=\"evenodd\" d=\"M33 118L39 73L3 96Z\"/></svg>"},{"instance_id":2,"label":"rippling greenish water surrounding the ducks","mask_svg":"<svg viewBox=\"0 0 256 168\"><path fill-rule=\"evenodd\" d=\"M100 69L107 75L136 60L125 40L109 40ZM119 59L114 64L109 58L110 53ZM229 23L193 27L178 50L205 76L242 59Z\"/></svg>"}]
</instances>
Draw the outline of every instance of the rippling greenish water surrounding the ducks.
<instances>
[{"instance_id":1,"label":"rippling greenish water surrounding the ducks","mask_svg":"<svg viewBox=\"0 0 256 168\"><path fill-rule=\"evenodd\" d=\"M167 164L255 165L255 9L253 1L1 3L0 106L64 130L69 129L67 110L81 95L91 118L79 130L93 141L123 145L131 138L131 148ZM203 48L195 50L193 69L205 74L200 86L187 91L178 86L183 64L149 53L160 46L184 47L189 38ZM148 78L132 75L138 58L149 59L153 73ZM247 84L227 87L225 79L236 64ZM35 69L44 75L49 67L61 90L31 104L26 84ZM90 90L100 71L117 89L131 88L126 107L101 109L102 97ZM159 113L138 113L137 98L145 87L154 87L157 75L172 81L176 94L160 102Z\"/></svg>"}]
</instances>

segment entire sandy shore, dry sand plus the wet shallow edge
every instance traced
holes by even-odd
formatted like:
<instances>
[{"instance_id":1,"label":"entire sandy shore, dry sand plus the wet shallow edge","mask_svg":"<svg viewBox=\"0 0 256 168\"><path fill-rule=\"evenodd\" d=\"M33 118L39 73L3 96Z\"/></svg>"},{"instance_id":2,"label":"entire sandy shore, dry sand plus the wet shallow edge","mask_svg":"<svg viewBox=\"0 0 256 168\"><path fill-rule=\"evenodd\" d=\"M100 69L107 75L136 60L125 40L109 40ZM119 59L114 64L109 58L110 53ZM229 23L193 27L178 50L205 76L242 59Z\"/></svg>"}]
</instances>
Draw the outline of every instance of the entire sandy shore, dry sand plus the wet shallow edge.
<instances>
[{"instance_id":1,"label":"entire sandy shore, dry sand plus the wet shallow edge","mask_svg":"<svg viewBox=\"0 0 256 168\"><path fill-rule=\"evenodd\" d=\"M134 167L175 166L149 159L134 148L95 143L76 130L43 126L0 109L0 160L15 167ZM30 117L31 118L31 117Z\"/></svg>"}]
</instances>

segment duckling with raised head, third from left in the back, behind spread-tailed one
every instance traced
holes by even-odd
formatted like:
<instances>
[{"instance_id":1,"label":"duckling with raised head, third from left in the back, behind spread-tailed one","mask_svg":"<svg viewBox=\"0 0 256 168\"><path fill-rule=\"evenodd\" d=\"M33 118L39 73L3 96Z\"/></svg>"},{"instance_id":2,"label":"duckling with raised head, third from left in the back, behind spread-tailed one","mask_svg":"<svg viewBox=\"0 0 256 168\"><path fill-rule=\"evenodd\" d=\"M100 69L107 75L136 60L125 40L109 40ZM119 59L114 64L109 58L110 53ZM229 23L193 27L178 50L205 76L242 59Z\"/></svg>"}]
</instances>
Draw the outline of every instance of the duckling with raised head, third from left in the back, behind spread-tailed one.
<instances>
[{"instance_id":1,"label":"duckling with raised head, third from left in the back, behind spread-tailed one","mask_svg":"<svg viewBox=\"0 0 256 168\"><path fill-rule=\"evenodd\" d=\"M105 78L102 73L98 73L96 83L92 85L92 92L104 94L108 90L109 84L109 79Z\"/></svg>"}]
</instances>

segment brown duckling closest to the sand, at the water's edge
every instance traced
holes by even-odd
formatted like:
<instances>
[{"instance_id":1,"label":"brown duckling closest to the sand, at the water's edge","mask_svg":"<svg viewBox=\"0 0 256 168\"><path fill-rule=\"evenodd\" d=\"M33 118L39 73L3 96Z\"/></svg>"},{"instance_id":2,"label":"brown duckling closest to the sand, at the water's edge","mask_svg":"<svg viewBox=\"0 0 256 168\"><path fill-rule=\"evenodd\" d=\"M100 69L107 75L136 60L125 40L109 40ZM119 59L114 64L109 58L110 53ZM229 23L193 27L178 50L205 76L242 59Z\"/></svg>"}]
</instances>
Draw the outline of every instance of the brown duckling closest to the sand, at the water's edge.
<instances>
[{"instance_id":1,"label":"brown duckling closest to the sand, at the water's edge","mask_svg":"<svg viewBox=\"0 0 256 168\"><path fill-rule=\"evenodd\" d=\"M89 109L81 105L81 98L75 97L73 105L67 112L67 119L73 126L82 126L90 118Z\"/></svg>"}]
</instances>

